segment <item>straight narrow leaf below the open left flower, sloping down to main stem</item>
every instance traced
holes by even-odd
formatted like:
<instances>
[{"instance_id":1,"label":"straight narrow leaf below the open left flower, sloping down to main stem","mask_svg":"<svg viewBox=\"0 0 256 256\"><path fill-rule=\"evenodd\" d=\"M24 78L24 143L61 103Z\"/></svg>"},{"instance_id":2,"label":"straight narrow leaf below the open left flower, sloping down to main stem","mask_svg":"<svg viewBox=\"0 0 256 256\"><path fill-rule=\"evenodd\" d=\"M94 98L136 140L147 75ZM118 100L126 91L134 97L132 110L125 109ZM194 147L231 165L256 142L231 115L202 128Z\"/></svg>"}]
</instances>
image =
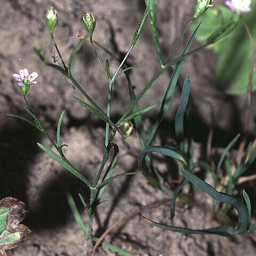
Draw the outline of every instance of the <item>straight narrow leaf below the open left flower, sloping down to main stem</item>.
<instances>
[{"instance_id":1,"label":"straight narrow leaf below the open left flower, sloping down to main stem","mask_svg":"<svg viewBox=\"0 0 256 256\"><path fill-rule=\"evenodd\" d=\"M87 180L84 175L79 172L71 163L67 161L67 159L63 159L57 154L55 154L51 149L43 146L40 143L37 143L38 147L43 149L46 154L48 154L50 157L52 157L56 162L58 162L61 166L63 166L65 169L67 169L69 172L74 174L78 179L82 180L89 188L92 187L92 184L89 180Z\"/></svg>"}]
</instances>

